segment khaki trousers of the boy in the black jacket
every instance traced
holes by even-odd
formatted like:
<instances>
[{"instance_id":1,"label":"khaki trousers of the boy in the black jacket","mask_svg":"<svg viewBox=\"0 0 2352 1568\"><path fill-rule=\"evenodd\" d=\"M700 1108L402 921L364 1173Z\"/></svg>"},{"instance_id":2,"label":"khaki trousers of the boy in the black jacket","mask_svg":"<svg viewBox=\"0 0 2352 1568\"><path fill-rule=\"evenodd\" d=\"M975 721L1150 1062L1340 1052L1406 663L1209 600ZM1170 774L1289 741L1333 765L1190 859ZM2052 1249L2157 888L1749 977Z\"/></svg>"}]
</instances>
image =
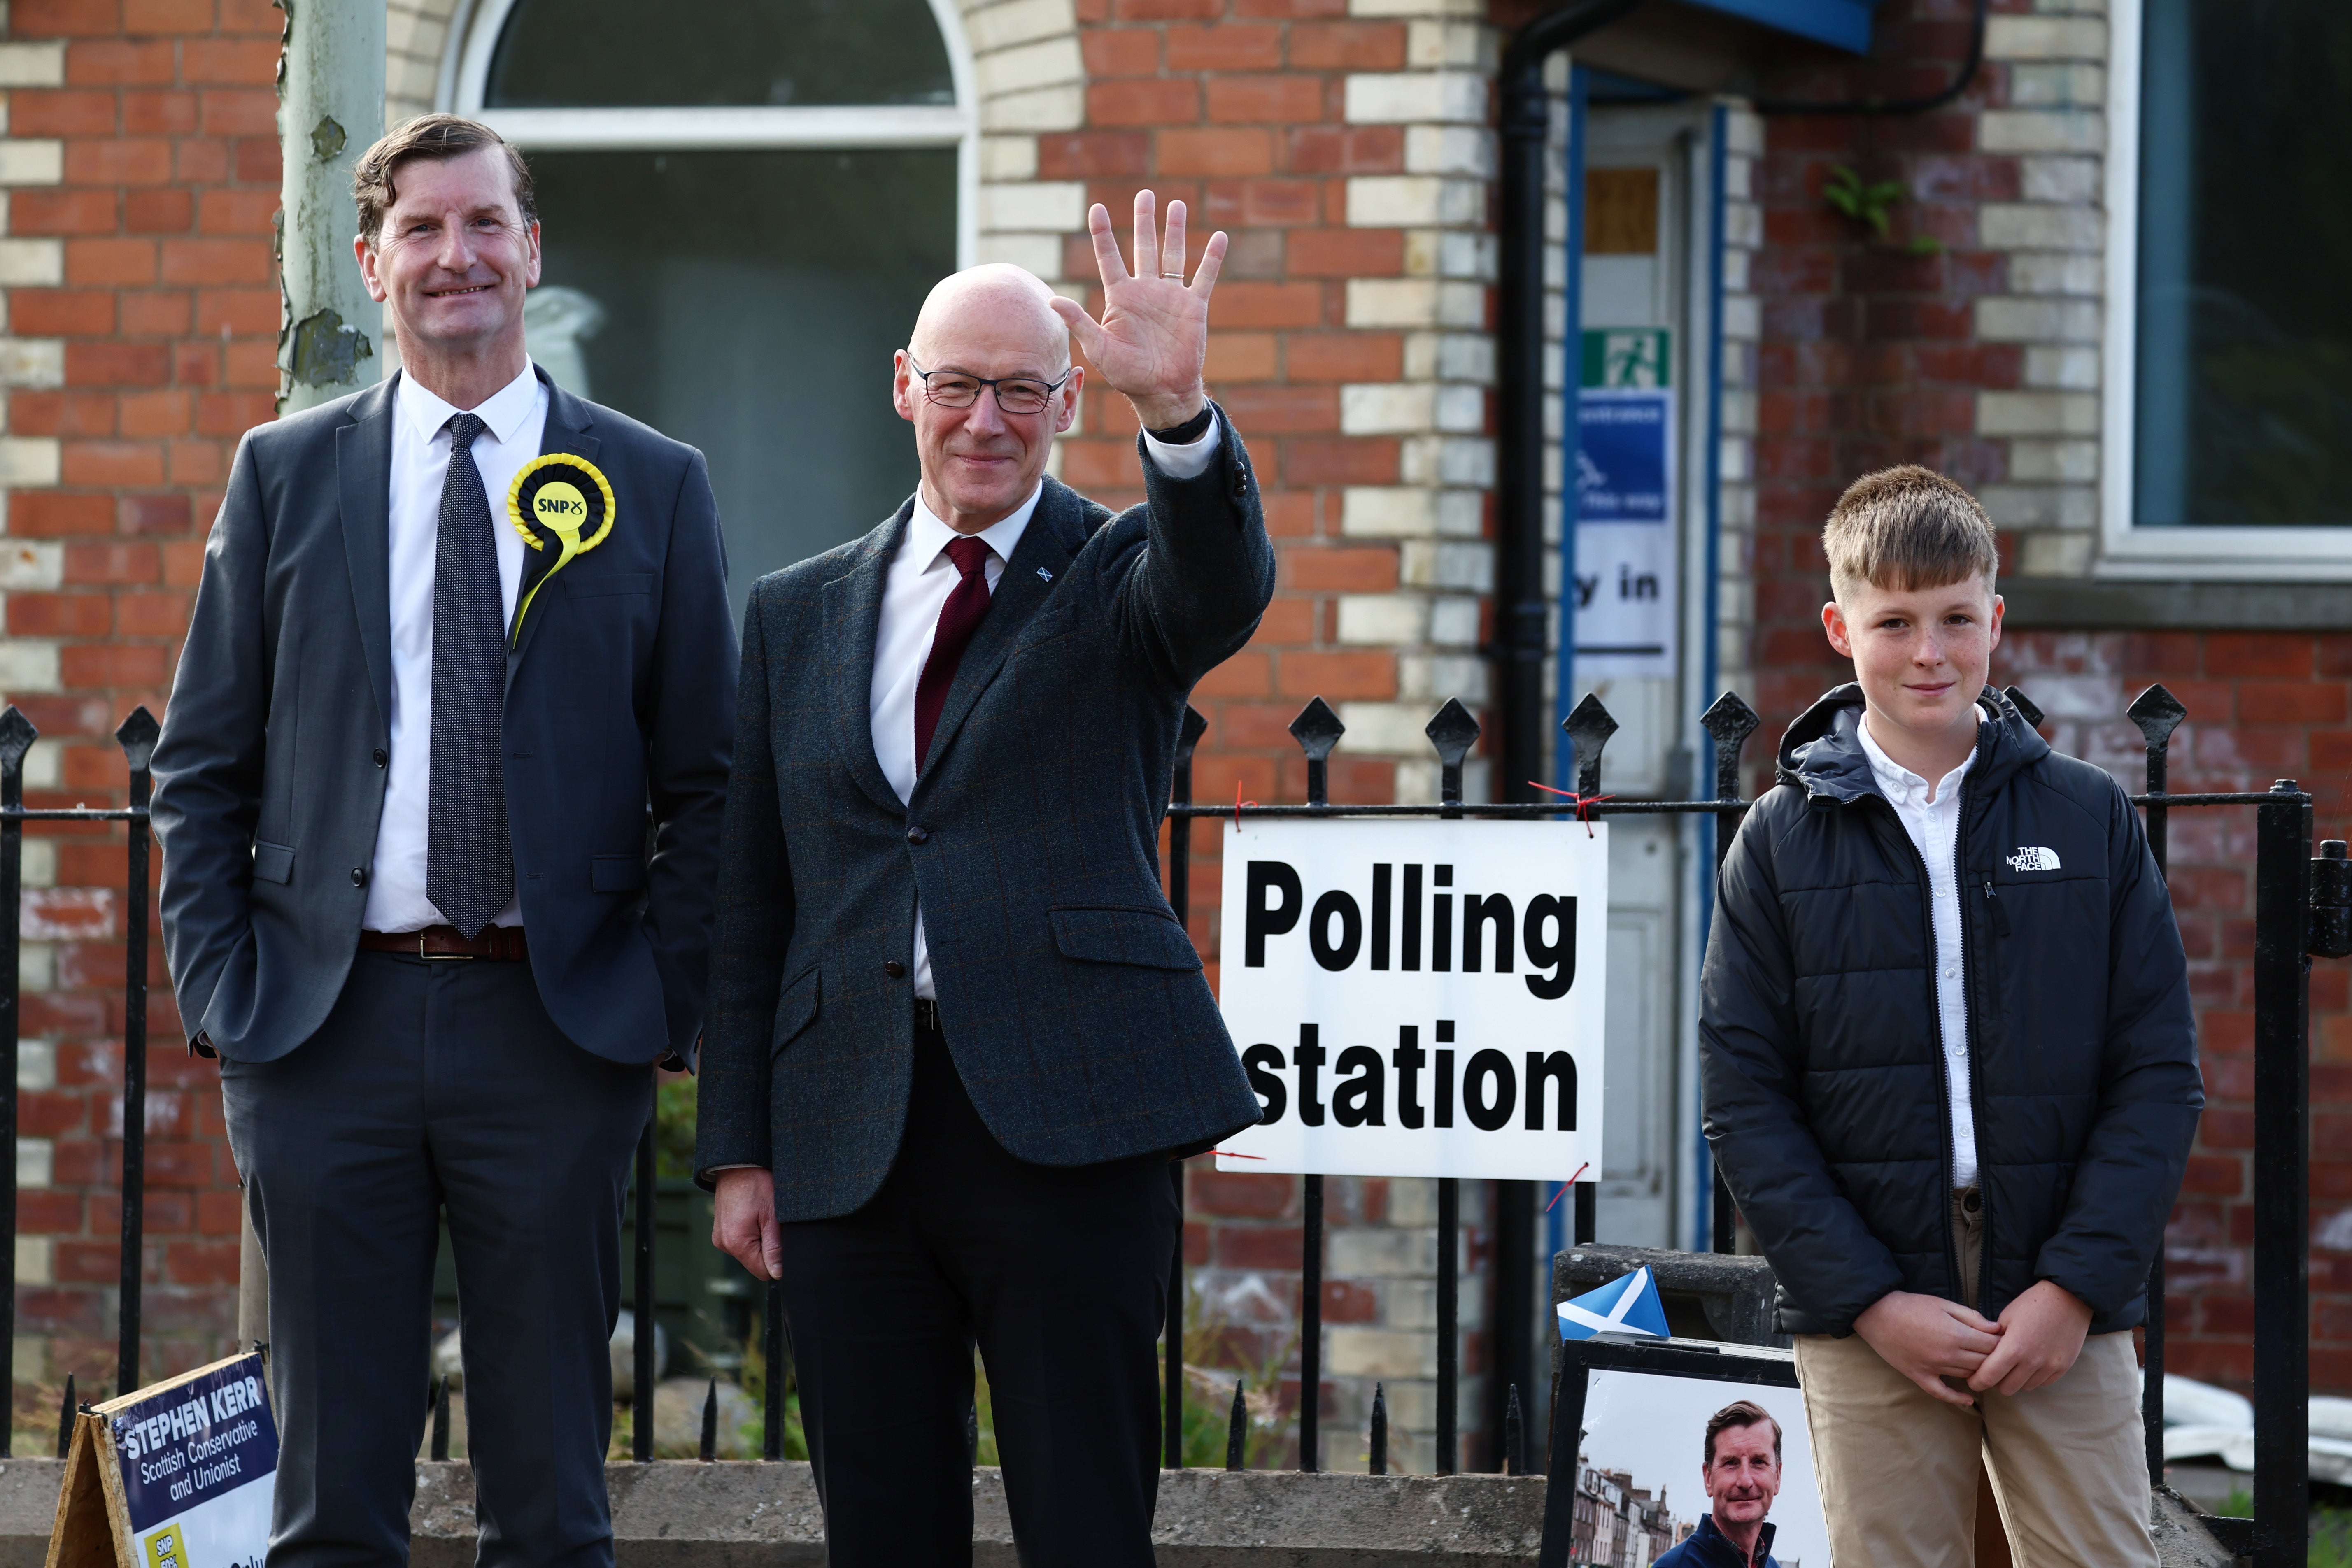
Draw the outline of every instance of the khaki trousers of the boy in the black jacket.
<instances>
[{"instance_id":1,"label":"khaki trousers of the boy in the black jacket","mask_svg":"<svg viewBox=\"0 0 2352 1568\"><path fill-rule=\"evenodd\" d=\"M1955 1197L1962 1295L1976 1302L1983 1208ZM2018 1568L2154 1568L2147 1453L2131 1333L2091 1335L2056 1382L1929 1399L1860 1335L1797 1335L1797 1380L1832 1568L1973 1568L1976 1476Z\"/></svg>"}]
</instances>

